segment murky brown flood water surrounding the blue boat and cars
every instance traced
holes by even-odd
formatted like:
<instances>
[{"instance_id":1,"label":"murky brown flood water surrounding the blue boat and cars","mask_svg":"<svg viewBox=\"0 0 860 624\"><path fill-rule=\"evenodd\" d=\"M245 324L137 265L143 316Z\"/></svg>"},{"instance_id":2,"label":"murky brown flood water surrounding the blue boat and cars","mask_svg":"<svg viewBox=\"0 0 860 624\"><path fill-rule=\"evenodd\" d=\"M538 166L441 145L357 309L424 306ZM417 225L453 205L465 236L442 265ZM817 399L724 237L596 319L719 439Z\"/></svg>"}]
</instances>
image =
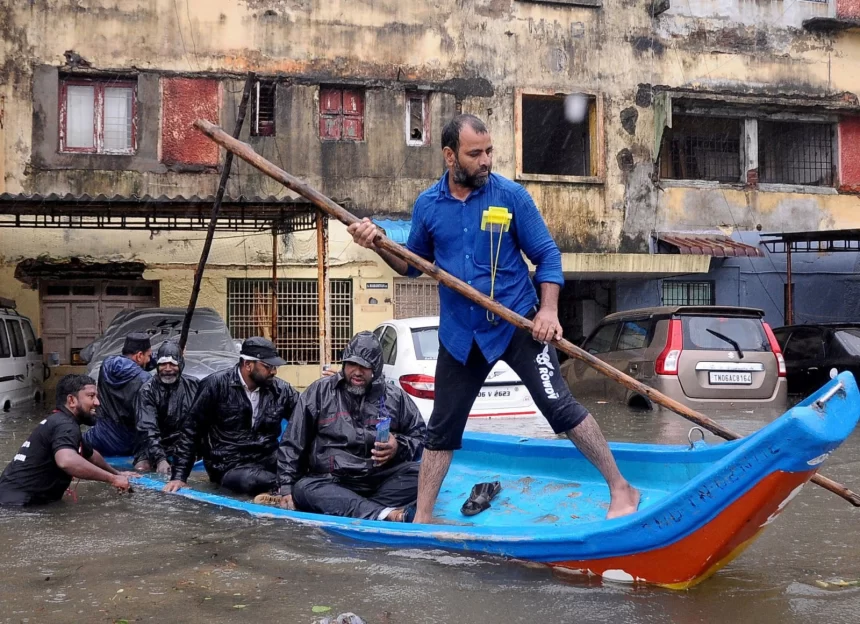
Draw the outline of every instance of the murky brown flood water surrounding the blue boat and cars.
<instances>
[{"instance_id":1,"label":"murky brown flood water surrounding the blue boat and cars","mask_svg":"<svg viewBox=\"0 0 860 624\"><path fill-rule=\"evenodd\" d=\"M590 406L607 438L681 443L670 413ZM7 462L42 416L0 414ZM771 415L715 416L746 433ZM542 421L493 420L483 431L550 437ZM708 436L709 442L717 443ZM858 434L822 472L860 490ZM860 510L807 485L738 559L685 592L572 581L542 567L444 551L368 547L318 529L255 519L180 497L119 496L81 483L36 511L0 510L0 622L312 623L351 611L375 623L856 622ZM317 607L330 607L318 614Z\"/></svg>"}]
</instances>

